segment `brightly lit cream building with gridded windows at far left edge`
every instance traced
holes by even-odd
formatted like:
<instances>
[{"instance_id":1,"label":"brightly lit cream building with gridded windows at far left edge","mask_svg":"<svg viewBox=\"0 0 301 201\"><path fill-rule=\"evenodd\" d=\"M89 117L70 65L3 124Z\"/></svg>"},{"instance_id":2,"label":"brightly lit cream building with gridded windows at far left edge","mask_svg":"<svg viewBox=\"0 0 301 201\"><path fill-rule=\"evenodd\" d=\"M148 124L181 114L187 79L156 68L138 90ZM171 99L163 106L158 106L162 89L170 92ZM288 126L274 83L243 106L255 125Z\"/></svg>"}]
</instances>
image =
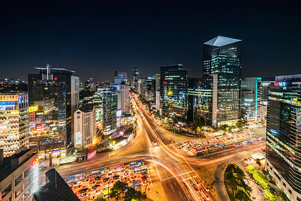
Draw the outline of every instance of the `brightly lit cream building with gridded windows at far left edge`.
<instances>
[{"instance_id":1,"label":"brightly lit cream building with gridded windows at far left edge","mask_svg":"<svg viewBox=\"0 0 301 201\"><path fill-rule=\"evenodd\" d=\"M29 146L28 94L0 94L0 138L4 157Z\"/></svg>"}]
</instances>

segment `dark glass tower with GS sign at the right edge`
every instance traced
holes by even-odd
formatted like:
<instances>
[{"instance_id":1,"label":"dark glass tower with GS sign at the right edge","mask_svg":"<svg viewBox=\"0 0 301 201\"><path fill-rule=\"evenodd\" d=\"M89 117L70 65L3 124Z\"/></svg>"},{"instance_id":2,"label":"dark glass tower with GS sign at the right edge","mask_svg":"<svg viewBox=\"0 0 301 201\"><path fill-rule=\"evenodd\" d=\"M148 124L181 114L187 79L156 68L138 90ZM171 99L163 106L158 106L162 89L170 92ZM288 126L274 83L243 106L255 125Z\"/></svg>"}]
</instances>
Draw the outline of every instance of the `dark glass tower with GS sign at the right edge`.
<instances>
[{"instance_id":1,"label":"dark glass tower with GS sign at the right edge","mask_svg":"<svg viewBox=\"0 0 301 201\"><path fill-rule=\"evenodd\" d=\"M291 201L301 201L301 74L268 86L266 170Z\"/></svg>"}]
</instances>

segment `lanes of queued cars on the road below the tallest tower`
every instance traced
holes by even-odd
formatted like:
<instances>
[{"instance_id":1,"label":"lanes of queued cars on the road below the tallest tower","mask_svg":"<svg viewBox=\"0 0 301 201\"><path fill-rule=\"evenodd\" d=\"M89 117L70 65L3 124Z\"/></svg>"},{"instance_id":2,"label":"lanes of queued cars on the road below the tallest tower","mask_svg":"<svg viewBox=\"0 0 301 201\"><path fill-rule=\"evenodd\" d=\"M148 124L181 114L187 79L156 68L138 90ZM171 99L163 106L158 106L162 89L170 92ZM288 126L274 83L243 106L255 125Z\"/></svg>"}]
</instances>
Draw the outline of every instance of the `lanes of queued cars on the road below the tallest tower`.
<instances>
[{"instance_id":1,"label":"lanes of queued cars on the road below the tallest tower","mask_svg":"<svg viewBox=\"0 0 301 201\"><path fill-rule=\"evenodd\" d=\"M218 136L210 139L191 139L182 142L177 142L177 145L187 154L195 155L200 152L208 152L211 150L224 148L227 145L233 145L234 147L238 147L245 144L256 143L262 140L265 140L265 137L254 136L254 133L250 132L246 134L237 134L235 136Z\"/></svg>"}]
</instances>

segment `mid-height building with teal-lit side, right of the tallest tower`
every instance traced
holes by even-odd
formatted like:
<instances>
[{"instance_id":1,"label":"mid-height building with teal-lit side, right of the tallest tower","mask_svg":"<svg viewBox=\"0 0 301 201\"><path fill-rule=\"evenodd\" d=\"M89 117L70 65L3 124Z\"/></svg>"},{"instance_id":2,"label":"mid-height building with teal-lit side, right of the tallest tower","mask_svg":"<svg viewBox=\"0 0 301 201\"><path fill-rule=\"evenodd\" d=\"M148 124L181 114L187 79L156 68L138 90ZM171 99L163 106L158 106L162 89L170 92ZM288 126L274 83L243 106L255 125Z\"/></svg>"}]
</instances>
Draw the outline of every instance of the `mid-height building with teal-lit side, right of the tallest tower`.
<instances>
[{"instance_id":1,"label":"mid-height building with teal-lit side, right of the tallest tower","mask_svg":"<svg viewBox=\"0 0 301 201\"><path fill-rule=\"evenodd\" d=\"M260 122L261 77L246 77L241 81L241 118L247 122Z\"/></svg>"}]
</instances>

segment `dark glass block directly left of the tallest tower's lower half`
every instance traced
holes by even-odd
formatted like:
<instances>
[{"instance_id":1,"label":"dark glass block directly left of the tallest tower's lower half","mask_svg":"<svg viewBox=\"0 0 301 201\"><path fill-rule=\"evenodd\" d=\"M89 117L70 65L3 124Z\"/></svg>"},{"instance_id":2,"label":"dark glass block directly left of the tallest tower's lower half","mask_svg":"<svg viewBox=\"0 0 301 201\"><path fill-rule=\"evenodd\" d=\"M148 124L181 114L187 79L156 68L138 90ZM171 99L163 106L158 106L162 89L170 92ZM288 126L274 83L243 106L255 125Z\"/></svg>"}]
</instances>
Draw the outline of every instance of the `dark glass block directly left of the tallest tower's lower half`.
<instances>
[{"instance_id":1,"label":"dark glass block directly left of the tallest tower's lower half","mask_svg":"<svg viewBox=\"0 0 301 201\"><path fill-rule=\"evenodd\" d=\"M208 126L216 124L217 75L188 78L188 111L190 122L201 121Z\"/></svg>"}]
</instances>

